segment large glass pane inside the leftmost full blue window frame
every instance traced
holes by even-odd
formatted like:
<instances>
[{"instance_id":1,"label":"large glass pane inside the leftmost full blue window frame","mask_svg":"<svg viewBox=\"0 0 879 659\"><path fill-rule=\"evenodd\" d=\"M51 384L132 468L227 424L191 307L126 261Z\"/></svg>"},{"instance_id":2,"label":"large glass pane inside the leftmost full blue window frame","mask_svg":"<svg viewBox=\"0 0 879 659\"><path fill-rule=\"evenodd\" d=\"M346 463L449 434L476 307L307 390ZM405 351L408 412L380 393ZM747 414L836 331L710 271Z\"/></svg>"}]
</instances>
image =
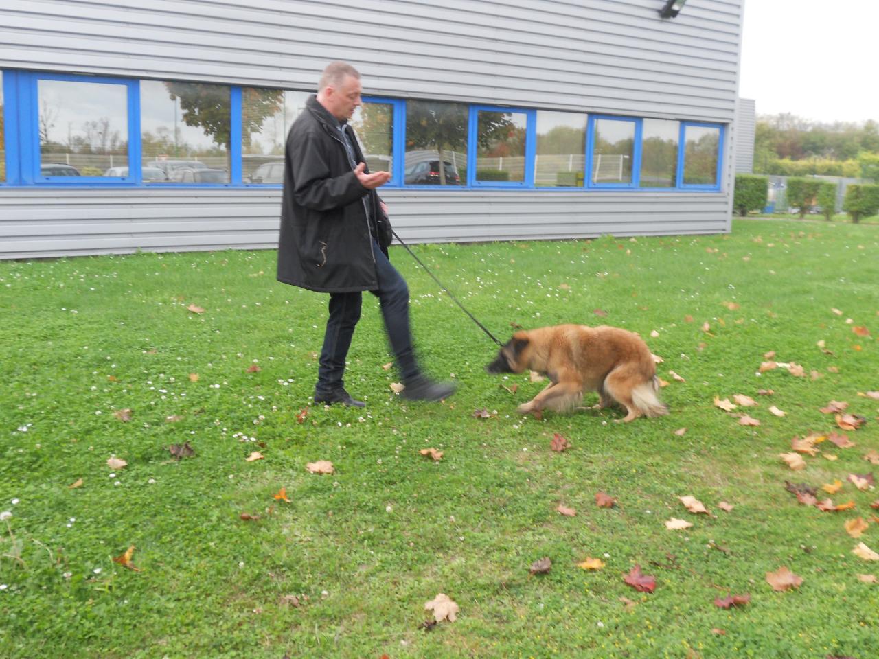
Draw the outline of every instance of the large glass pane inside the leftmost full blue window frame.
<instances>
[{"instance_id":1,"label":"large glass pane inside the leftmost full blue window frame","mask_svg":"<svg viewBox=\"0 0 879 659\"><path fill-rule=\"evenodd\" d=\"M39 80L40 176L127 176L127 94L124 84Z\"/></svg>"}]
</instances>

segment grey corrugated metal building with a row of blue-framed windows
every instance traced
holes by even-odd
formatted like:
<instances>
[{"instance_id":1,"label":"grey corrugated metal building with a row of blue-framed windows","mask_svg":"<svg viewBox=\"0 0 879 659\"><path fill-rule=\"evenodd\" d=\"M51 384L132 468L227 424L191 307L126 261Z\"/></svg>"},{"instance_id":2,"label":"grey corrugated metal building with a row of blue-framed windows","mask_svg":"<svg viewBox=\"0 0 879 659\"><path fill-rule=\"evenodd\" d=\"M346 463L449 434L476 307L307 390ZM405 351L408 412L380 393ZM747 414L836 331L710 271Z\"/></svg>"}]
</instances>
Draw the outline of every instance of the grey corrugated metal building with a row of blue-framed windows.
<instances>
[{"instance_id":1,"label":"grey corrugated metal building with a row of blue-framed windows","mask_svg":"<svg viewBox=\"0 0 879 659\"><path fill-rule=\"evenodd\" d=\"M0 257L276 246L337 59L404 240L729 231L743 3L0 4Z\"/></svg>"}]
</instances>

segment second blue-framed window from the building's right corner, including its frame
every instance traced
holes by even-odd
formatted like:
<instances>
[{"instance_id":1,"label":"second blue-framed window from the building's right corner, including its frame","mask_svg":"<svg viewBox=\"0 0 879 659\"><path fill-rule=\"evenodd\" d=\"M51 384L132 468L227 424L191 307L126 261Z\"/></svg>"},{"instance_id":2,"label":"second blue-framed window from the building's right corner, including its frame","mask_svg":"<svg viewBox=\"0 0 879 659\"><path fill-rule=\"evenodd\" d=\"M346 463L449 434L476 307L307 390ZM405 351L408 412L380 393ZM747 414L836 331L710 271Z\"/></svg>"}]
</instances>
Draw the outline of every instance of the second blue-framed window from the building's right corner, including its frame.
<instances>
[{"instance_id":1,"label":"second blue-framed window from the building's right corner, including its frame","mask_svg":"<svg viewBox=\"0 0 879 659\"><path fill-rule=\"evenodd\" d=\"M627 148L627 142L630 142L629 152L622 153ZM596 154L596 150L602 153ZM641 175L641 119L608 114L589 115L586 175L586 187L589 189L637 189Z\"/></svg>"}]
</instances>

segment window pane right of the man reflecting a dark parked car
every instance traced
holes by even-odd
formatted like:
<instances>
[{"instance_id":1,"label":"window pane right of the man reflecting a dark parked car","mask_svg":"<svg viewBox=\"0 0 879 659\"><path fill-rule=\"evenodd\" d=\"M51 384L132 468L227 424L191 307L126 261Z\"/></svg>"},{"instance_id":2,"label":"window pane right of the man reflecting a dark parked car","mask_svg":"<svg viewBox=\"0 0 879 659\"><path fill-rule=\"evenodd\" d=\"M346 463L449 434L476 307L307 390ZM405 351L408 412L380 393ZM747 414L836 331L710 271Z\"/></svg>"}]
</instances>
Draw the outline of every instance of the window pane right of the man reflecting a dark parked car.
<instances>
[{"instance_id":1,"label":"window pane right of the man reflecting a dark parked car","mask_svg":"<svg viewBox=\"0 0 879 659\"><path fill-rule=\"evenodd\" d=\"M407 101L403 183L466 184L468 127L467 105Z\"/></svg>"}]
</instances>

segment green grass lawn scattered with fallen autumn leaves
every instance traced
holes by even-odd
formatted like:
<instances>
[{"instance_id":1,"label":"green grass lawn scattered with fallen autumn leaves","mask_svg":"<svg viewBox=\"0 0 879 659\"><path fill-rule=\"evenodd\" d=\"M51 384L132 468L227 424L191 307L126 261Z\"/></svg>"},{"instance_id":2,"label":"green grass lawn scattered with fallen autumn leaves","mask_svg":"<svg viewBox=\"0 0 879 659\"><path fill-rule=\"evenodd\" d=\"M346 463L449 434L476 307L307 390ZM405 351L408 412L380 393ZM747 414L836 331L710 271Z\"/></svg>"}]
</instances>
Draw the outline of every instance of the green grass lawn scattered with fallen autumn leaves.
<instances>
[{"instance_id":1,"label":"green grass lawn scattered with fallen autumn leaves","mask_svg":"<svg viewBox=\"0 0 879 659\"><path fill-rule=\"evenodd\" d=\"M879 562L852 554L879 551L879 493L847 480L875 473L863 456L879 449L879 227L747 219L731 235L415 249L503 340L511 323L640 332L665 358L671 414L517 416L543 384L485 373L494 344L401 248L422 361L459 386L442 404L391 390L367 295L346 379L367 408L311 405L326 297L276 282L271 250L0 263L0 655L879 656L879 584L858 578ZM768 351L805 376L759 374ZM737 394L759 406L714 405ZM867 419L845 432L855 446L825 441L792 471L791 438L839 431L819 411L831 400ZM572 448L551 451L554 433ZM183 442L195 455L175 460ZM310 474L316 460L335 474ZM839 479L834 503L856 507L799 504L786 479L819 498ZM599 508L599 490L619 505ZM139 571L113 562L132 545ZM548 574L529 574L543 557ZM655 592L623 582L636 564ZM797 590L766 583L781 566ZM438 593L459 617L425 629Z\"/></svg>"}]
</instances>

